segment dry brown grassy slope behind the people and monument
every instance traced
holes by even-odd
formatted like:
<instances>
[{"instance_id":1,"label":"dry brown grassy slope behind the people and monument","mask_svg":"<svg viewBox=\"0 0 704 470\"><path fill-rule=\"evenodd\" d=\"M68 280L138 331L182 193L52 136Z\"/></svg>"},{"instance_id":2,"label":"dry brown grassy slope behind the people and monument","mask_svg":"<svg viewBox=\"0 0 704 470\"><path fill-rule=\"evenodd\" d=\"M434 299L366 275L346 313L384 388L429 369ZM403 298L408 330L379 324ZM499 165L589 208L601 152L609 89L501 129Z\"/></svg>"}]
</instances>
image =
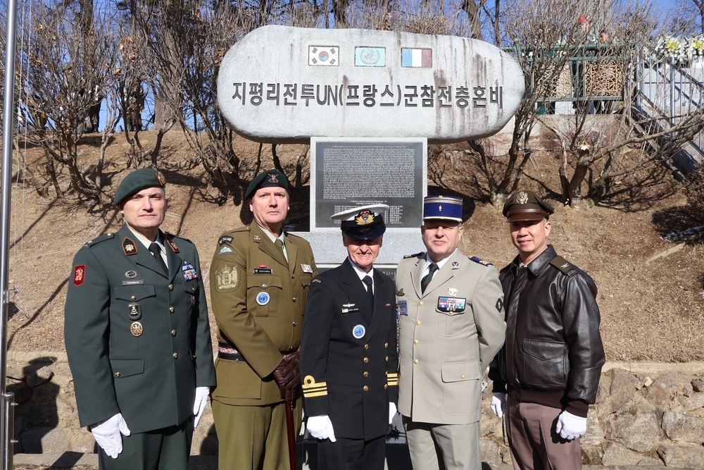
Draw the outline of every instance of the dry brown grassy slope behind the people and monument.
<instances>
[{"instance_id":1,"label":"dry brown grassy slope behind the people and monument","mask_svg":"<svg viewBox=\"0 0 704 470\"><path fill-rule=\"evenodd\" d=\"M155 135L142 133L146 146ZM94 164L99 148L95 138L81 146L85 165ZM22 147L22 146L20 146ZM18 172L25 162L44 162L39 148L15 152L11 205L9 288L11 309L7 335L11 351L59 352L63 346L63 307L73 255L102 233L121 225L113 206L89 206L70 190L61 173L64 194L37 195L29 178ZM256 156L258 145L241 148L240 157ZM113 194L125 171L129 146L123 137L108 148L106 178ZM289 178L303 146L283 146L279 154ZM176 131L165 138L161 170L168 181L170 210L163 228L192 240L201 255L204 278L218 236L249 223L249 207L235 206L232 197L222 205L218 192L207 184L207 175L194 164ZM264 168L271 168L268 155ZM555 206L550 242L558 253L583 268L596 280L601 307L601 331L607 357L612 361L684 362L704 360L701 326L704 315L704 237L670 242L661 237L693 224L686 198L667 172L627 188L605 206L564 206L551 199L555 185L539 182L555 175L560 161L536 156L525 187L546 194ZM429 163L429 194L458 194L465 198L465 235L461 249L501 268L515 256L501 208L486 202L482 180L472 159ZM363 171L363 168L360 169ZM42 172L36 171L38 179ZM546 187L548 190L546 190ZM292 211L307 212L306 194L298 194ZM297 214L296 214L297 213ZM694 224L696 225L696 224ZM298 228L298 230L301 230ZM420 237L420 232L419 232ZM207 289L207 283L206 283ZM211 323L214 328L214 321Z\"/></svg>"}]
</instances>

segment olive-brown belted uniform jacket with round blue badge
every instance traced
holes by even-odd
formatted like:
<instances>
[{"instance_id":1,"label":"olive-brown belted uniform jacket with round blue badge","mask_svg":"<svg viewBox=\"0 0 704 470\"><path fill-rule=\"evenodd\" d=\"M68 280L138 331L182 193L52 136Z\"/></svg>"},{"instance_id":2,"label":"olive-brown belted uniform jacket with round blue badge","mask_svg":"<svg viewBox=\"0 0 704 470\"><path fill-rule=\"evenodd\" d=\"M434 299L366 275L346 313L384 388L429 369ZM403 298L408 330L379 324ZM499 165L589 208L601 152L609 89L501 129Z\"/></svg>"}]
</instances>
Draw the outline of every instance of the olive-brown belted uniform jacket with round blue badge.
<instances>
[{"instance_id":1,"label":"olive-brown belted uniform jacket with round blue badge","mask_svg":"<svg viewBox=\"0 0 704 470\"><path fill-rule=\"evenodd\" d=\"M301 345L310 281L318 273L306 240L287 233L285 243L288 262L257 223L218 240L210 265L220 342L213 400L234 405L281 401L272 372L282 354Z\"/></svg>"}]
</instances>

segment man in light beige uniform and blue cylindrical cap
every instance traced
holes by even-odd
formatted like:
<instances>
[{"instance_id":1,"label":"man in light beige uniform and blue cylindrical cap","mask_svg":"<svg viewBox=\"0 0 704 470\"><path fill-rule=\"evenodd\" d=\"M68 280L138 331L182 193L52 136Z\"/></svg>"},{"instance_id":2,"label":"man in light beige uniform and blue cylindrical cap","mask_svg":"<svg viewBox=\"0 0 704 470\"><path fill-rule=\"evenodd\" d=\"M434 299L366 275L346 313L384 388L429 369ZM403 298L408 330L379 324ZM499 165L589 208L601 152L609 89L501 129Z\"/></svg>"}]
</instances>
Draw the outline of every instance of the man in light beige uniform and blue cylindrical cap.
<instances>
[{"instance_id":1,"label":"man in light beige uniform and blue cylindrical cap","mask_svg":"<svg viewBox=\"0 0 704 470\"><path fill-rule=\"evenodd\" d=\"M462 199L429 196L427 253L396 269L398 412L417 470L479 470L482 372L504 341L503 290L494 266L460 252Z\"/></svg>"}]
</instances>

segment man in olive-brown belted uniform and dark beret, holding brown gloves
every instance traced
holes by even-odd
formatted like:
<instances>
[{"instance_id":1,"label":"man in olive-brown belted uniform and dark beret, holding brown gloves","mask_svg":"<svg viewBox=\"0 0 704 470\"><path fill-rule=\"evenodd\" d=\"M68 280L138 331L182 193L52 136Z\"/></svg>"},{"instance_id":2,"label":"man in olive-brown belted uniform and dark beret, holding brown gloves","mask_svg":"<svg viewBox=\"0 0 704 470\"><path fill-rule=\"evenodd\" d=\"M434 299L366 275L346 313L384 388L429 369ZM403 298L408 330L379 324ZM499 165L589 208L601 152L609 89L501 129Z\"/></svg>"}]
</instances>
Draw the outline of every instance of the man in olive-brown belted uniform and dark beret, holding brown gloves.
<instances>
[{"instance_id":1,"label":"man in olive-brown belted uniform and dark beret, holding brown gloves","mask_svg":"<svg viewBox=\"0 0 704 470\"><path fill-rule=\"evenodd\" d=\"M287 469L284 400L295 402L296 428L301 424L298 346L317 268L308 242L282 228L288 187L277 170L252 180L245 197L254 222L223 233L210 266L220 470Z\"/></svg>"}]
</instances>

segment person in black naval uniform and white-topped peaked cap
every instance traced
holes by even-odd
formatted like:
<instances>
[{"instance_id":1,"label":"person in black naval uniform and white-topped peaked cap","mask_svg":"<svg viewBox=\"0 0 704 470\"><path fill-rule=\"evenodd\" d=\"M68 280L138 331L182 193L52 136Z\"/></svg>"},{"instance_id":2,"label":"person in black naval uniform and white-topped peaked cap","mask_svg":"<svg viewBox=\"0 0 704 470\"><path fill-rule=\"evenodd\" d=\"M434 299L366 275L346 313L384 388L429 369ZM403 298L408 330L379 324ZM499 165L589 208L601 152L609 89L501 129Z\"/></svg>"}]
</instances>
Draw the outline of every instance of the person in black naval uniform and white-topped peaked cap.
<instances>
[{"instance_id":1,"label":"person in black naval uniform and white-topped peaked cap","mask_svg":"<svg viewBox=\"0 0 704 470\"><path fill-rule=\"evenodd\" d=\"M376 204L334 214L348 256L311 283L301 377L320 469L384 469L398 397L396 298L394 280L373 264L388 210Z\"/></svg>"}]
</instances>

